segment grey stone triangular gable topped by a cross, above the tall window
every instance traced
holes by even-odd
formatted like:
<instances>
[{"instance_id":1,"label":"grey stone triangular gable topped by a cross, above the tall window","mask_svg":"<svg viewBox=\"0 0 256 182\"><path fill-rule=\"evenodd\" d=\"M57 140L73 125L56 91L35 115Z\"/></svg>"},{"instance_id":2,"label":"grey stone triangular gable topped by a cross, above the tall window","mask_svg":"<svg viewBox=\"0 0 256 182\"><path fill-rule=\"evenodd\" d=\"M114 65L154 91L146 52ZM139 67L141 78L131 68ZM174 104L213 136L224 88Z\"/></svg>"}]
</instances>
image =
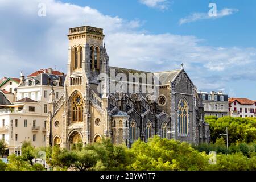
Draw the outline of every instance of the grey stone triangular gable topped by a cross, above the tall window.
<instances>
[{"instance_id":1,"label":"grey stone triangular gable topped by a cross, above the tall window","mask_svg":"<svg viewBox=\"0 0 256 182\"><path fill-rule=\"evenodd\" d=\"M193 94L193 82L184 70L172 80L172 85L174 86L174 92Z\"/></svg>"}]
</instances>

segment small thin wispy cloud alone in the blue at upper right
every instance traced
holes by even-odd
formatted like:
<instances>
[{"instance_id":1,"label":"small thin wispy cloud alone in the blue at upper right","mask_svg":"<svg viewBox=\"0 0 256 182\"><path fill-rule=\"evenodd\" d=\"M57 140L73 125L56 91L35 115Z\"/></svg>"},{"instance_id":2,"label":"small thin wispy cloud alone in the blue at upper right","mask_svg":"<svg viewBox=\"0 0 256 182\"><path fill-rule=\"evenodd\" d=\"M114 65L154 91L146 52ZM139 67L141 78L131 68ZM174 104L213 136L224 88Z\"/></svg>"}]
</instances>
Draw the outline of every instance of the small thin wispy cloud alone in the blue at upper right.
<instances>
[{"instance_id":1,"label":"small thin wispy cloud alone in the blue at upper right","mask_svg":"<svg viewBox=\"0 0 256 182\"><path fill-rule=\"evenodd\" d=\"M185 18L181 18L179 20L179 24L184 24L184 23L191 23L191 22L196 22L198 20L202 20L202 19L216 19L216 18L222 18L224 16L228 16L228 15L232 15L234 13L236 13L238 11L238 9L229 9L229 8L225 8L222 9L220 11L217 11L217 15L216 16L209 16L208 13L193 13Z\"/></svg>"}]
</instances>

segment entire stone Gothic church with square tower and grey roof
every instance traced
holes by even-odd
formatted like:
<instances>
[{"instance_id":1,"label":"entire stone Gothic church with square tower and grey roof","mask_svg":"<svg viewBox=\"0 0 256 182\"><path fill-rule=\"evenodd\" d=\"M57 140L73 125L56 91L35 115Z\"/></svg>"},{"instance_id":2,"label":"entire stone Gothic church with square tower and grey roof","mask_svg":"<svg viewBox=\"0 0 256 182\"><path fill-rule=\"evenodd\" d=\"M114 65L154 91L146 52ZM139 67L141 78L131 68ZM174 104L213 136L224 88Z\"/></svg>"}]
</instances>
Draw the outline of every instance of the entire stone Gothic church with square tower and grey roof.
<instances>
[{"instance_id":1,"label":"entire stone Gothic church with square tower and grey roof","mask_svg":"<svg viewBox=\"0 0 256 182\"><path fill-rule=\"evenodd\" d=\"M64 94L55 100L51 90L47 145L71 150L79 142L109 138L130 147L135 140L147 142L154 135L195 144L209 142L201 98L183 65L155 73L110 67L104 36L101 28L69 29ZM130 76L134 78L123 79Z\"/></svg>"}]
</instances>

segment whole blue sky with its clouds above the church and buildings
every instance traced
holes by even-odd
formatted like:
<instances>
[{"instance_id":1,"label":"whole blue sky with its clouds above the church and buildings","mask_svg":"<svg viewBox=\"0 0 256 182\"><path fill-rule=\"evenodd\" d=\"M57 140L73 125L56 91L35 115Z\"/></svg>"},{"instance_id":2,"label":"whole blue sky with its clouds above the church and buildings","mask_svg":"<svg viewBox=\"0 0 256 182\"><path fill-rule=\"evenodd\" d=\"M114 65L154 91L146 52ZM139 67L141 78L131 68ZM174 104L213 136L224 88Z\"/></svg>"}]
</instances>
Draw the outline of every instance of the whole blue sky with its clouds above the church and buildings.
<instances>
[{"instance_id":1,"label":"whole blue sky with its clouds above the church and buildings","mask_svg":"<svg viewBox=\"0 0 256 182\"><path fill-rule=\"evenodd\" d=\"M54 65L67 72L68 28L85 24L85 14L104 28L110 65L165 71L184 63L198 90L256 100L256 1L1 0L0 76Z\"/></svg>"}]
</instances>

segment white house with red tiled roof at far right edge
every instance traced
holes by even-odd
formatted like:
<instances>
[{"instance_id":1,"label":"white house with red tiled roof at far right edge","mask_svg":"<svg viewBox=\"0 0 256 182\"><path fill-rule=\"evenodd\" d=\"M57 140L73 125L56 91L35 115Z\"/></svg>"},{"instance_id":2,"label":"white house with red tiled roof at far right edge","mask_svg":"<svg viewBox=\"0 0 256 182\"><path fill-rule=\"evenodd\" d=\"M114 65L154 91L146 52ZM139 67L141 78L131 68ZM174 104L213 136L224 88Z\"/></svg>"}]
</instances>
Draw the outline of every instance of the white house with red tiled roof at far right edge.
<instances>
[{"instance_id":1,"label":"white house with red tiled roof at far right edge","mask_svg":"<svg viewBox=\"0 0 256 182\"><path fill-rule=\"evenodd\" d=\"M231 117L256 117L256 101L247 98L229 98Z\"/></svg>"}]
</instances>

